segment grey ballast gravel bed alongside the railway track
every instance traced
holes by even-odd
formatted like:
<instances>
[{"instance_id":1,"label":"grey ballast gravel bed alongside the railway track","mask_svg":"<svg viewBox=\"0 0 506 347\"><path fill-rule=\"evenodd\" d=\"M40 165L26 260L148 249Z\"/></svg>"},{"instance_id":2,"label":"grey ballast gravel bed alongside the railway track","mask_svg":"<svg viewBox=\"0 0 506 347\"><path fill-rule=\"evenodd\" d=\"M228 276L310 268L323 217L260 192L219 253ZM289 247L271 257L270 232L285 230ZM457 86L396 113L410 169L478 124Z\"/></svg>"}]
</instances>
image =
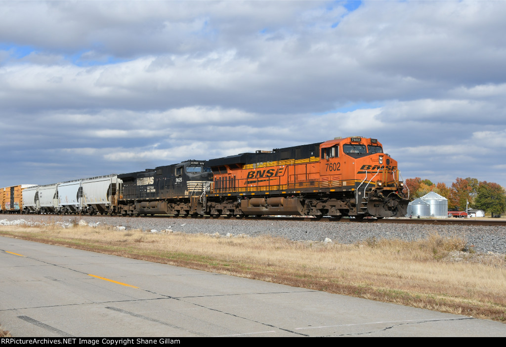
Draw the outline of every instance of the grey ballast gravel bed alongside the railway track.
<instances>
[{"instance_id":1,"label":"grey ballast gravel bed alongside the railway track","mask_svg":"<svg viewBox=\"0 0 506 347\"><path fill-rule=\"evenodd\" d=\"M22 221L21 221L22 220ZM467 246L479 253L506 254L505 226L475 225L426 225L386 223L305 222L289 220L198 219L198 218L149 218L102 216L45 216L0 215L0 225L51 224L70 227L85 221L90 226L101 224L118 227L116 230L142 229L147 232L170 230L171 232L208 233L221 236L271 235L291 240L355 243L372 238L399 238L417 240L437 232L442 236L462 237ZM82 222L81 222L82 223ZM506 223L505 223L506 224ZM124 227L119 228L119 227Z\"/></svg>"}]
</instances>

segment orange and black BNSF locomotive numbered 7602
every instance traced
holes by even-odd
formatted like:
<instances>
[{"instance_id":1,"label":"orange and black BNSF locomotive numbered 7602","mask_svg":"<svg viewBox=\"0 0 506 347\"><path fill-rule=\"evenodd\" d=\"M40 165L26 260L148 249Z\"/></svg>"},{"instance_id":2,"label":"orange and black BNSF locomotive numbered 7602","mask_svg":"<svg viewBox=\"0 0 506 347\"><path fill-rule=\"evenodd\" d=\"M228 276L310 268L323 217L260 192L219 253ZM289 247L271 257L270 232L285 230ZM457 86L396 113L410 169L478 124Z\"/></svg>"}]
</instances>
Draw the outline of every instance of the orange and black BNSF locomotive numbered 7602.
<instances>
[{"instance_id":1,"label":"orange and black BNSF locomotive numbered 7602","mask_svg":"<svg viewBox=\"0 0 506 347\"><path fill-rule=\"evenodd\" d=\"M377 139L353 136L213 159L211 215L403 217L397 161Z\"/></svg>"}]
</instances>

